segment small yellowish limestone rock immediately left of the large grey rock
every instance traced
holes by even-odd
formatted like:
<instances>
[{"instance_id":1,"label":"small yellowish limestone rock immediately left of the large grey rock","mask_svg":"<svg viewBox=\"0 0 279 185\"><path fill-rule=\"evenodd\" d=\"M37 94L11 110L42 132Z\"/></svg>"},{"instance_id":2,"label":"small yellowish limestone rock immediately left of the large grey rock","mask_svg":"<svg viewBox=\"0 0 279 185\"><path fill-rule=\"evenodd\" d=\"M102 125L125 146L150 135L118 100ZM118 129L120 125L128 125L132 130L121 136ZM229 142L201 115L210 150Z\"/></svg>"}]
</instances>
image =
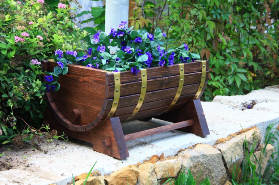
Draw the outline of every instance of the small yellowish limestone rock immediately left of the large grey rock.
<instances>
[{"instance_id":1,"label":"small yellowish limestone rock immediately left of the large grey rock","mask_svg":"<svg viewBox=\"0 0 279 185\"><path fill-rule=\"evenodd\" d=\"M169 159L154 163L157 179L175 177L181 168L179 159Z\"/></svg>"}]
</instances>

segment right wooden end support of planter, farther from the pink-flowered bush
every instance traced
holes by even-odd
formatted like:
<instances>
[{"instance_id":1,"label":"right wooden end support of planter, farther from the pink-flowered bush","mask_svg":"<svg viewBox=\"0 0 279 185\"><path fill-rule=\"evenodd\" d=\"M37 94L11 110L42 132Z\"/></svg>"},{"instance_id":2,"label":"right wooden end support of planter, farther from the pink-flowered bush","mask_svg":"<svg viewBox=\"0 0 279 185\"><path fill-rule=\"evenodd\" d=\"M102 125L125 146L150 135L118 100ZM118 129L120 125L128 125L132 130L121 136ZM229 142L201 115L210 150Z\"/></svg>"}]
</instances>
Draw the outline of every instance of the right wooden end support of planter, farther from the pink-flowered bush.
<instances>
[{"instance_id":1,"label":"right wooden end support of planter, farther from the pink-flowered bush","mask_svg":"<svg viewBox=\"0 0 279 185\"><path fill-rule=\"evenodd\" d=\"M202 109L202 104L199 99L190 100L184 107L180 108L179 110L155 116L154 118L173 123L193 119L193 125L177 130L193 133L199 136L206 136L210 134L207 122L205 120L205 114Z\"/></svg>"}]
</instances>

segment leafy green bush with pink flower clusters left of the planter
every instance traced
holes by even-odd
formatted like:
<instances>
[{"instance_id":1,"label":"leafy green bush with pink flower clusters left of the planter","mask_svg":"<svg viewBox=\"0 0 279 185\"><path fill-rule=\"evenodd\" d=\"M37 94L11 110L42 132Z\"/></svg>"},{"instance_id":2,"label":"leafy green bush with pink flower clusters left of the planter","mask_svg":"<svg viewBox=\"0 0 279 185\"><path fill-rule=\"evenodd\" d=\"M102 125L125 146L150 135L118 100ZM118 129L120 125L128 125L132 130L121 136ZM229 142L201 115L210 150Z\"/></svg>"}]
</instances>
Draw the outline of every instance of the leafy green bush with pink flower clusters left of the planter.
<instances>
[{"instance_id":1,"label":"leafy green bush with pink flower clusters left of the planter","mask_svg":"<svg viewBox=\"0 0 279 185\"><path fill-rule=\"evenodd\" d=\"M0 0L0 136L11 142L26 123L39 128L45 85L40 61L57 48L81 50L86 32L76 28L69 7L47 12L44 3ZM30 128L31 129L31 128Z\"/></svg>"}]
</instances>

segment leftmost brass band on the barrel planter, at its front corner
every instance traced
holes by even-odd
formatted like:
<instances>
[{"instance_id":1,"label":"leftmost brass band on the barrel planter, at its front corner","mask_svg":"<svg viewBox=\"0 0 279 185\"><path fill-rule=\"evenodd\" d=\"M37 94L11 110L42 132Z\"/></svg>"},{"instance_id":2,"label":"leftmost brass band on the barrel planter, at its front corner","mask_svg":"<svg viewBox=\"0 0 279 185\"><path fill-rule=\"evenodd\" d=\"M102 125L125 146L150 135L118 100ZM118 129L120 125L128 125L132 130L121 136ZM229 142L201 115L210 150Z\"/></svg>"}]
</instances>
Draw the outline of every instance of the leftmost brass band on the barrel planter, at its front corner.
<instances>
[{"instance_id":1,"label":"leftmost brass band on the barrel planter, at its front corner","mask_svg":"<svg viewBox=\"0 0 279 185\"><path fill-rule=\"evenodd\" d=\"M110 112L107 115L107 118L111 118L113 116L113 114L115 113L116 109L117 109L119 99L120 99L120 85L121 85L121 83L120 83L120 72L115 72L114 73L114 98L113 98L113 102L112 102Z\"/></svg>"}]
</instances>

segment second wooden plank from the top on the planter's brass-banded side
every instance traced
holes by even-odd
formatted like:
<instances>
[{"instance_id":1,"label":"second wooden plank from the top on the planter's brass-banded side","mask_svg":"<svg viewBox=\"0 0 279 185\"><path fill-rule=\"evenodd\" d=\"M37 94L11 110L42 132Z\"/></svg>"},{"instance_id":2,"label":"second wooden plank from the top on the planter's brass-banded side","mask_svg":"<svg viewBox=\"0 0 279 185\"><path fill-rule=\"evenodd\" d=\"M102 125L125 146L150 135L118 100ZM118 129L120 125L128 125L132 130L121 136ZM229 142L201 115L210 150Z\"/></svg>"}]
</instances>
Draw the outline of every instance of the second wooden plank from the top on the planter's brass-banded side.
<instances>
[{"instance_id":1,"label":"second wooden plank from the top on the planter's brass-banded side","mask_svg":"<svg viewBox=\"0 0 279 185\"><path fill-rule=\"evenodd\" d=\"M208 74L209 71L207 71L205 81L207 81L208 79ZM202 72L185 74L184 76L185 80L183 85L199 83L201 81L201 77L202 77ZM171 87L178 87L179 80L180 80L179 75L149 79L147 81L146 91L149 92L149 91L155 91L160 89L167 89ZM106 96L105 96L106 98L113 98L114 87L115 87L114 85L106 85ZM137 94L140 93L140 90L141 90L141 81L129 82L124 84L121 83L120 96Z\"/></svg>"}]
</instances>

